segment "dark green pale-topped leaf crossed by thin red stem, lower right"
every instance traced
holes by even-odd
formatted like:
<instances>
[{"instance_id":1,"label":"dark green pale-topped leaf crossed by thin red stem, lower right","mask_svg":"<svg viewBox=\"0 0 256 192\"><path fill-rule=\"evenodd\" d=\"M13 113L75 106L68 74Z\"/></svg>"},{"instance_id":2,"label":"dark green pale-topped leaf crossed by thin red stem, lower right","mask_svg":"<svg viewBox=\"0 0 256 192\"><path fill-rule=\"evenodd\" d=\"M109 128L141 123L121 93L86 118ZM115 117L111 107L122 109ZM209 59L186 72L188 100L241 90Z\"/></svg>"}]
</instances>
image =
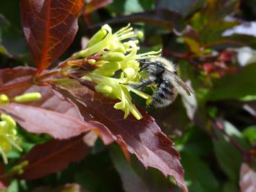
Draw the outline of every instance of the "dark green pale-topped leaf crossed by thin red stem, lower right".
<instances>
[{"instance_id":1,"label":"dark green pale-topped leaf crossed by thin red stem, lower right","mask_svg":"<svg viewBox=\"0 0 256 192\"><path fill-rule=\"evenodd\" d=\"M232 136L238 143L244 145L241 139L241 132L234 128L228 121L223 122L225 132ZM242 162L241 153L230 143L229 139L222 132L216 130L218 139L214 140L214 152L223 172L232 182L239 181L239 169Z\"/></svg>"}]
</instances>

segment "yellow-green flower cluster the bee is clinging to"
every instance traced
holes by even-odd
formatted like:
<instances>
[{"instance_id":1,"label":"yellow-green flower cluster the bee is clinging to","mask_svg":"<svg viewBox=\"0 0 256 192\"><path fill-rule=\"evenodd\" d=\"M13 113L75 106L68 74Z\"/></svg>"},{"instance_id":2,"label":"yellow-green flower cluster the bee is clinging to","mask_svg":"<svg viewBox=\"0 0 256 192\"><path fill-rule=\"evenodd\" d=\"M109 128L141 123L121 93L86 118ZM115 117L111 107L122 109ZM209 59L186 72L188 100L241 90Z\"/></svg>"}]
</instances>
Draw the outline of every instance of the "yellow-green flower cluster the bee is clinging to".
<instances>
[{"instance_id":1,"label":"yellow-green flower cluster the bee is clinging to","mask_svg":"<svg viewBox=\"0 0 256 192\"><path fill-rule=\"evenodd\" d=\"M136 119L142 119L142 114L132 102L130 91L146 99L149 104L152 101L151 96L142 91L133 89L129 86L131 83L139 82L142 74L139 72L138 60L155 58L160 56L160 51L151 51L138 54L139 40L143 33L137 34L130 27L130 24L121 28L116 33L112 33L112 28L108 25L102 28L89 40L87 46L82 51L75 53L68 62L69 67L74 67L84 58L87 61L87 67L93 69L85 73L84 80L96 83L96 91L120 102L114 105L117 110L124 112L124 118L132 113Z\"/></svg>"}]
</instances>

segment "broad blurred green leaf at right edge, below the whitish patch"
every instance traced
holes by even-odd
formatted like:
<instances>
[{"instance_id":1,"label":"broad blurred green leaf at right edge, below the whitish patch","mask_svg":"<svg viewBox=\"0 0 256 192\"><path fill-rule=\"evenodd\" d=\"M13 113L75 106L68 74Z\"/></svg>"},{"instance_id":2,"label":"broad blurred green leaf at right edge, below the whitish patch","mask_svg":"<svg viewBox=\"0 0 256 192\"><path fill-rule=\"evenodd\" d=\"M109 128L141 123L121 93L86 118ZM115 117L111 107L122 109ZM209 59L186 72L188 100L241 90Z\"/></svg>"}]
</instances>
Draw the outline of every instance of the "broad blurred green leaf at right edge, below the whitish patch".
<instances>
[{"instance_id":1,"label":"broad blurred green leaf at right edge, below the whitish patch","mask_svg":"<svg viewBox=\"0 0 256 192\"><path fill-rule=\"evenodd\" d=\"M211 101L256 96L256 64L248 64L235 75L228 75L214 82L209 99Z\"/></svg>"}]
</instances>

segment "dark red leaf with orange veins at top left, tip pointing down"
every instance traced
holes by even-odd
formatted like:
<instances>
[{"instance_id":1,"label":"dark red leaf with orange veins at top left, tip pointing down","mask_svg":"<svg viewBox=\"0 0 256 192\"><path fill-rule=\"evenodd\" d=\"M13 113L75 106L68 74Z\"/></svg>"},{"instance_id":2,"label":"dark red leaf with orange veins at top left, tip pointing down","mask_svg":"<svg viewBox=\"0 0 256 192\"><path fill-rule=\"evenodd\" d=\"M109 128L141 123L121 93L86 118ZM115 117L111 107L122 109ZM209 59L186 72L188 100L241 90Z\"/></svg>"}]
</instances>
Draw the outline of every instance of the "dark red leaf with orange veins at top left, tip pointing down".
<instances>
[{"instance_id":1,"label":"dark red leaf with orange veins at top left, tip pointing down","mask_svg":"<svg viewBox=\"0 0 256 192\"><path fill-rule=\"evenodd\" d=\"M24 35L38 67L49 67L73 42L83 0L22 0Z\"/></svg>"}]
</instances>

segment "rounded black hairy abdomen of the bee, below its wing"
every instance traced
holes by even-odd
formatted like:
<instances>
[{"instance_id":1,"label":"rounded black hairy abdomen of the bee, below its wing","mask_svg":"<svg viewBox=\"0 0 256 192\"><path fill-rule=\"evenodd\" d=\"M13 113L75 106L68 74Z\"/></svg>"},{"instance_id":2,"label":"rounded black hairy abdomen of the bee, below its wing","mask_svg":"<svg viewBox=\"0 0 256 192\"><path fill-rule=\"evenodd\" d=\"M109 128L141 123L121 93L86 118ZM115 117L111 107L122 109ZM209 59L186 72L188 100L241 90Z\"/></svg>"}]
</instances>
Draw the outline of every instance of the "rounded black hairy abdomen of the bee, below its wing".
<instances>
[{"instance_id":1,"label":"rounded black hairy abdomen of the bee, below its wing","mask_svg":"<svg viewBox=\"0 0 256 192\"><path fill-rule=\"evenodd\" d=\"M153 105L155 107L165 107L170 105L177 96L177 90L170 80L162 80L158 83L157 90L153 95Z\"/></svg>"}]
</instances>

